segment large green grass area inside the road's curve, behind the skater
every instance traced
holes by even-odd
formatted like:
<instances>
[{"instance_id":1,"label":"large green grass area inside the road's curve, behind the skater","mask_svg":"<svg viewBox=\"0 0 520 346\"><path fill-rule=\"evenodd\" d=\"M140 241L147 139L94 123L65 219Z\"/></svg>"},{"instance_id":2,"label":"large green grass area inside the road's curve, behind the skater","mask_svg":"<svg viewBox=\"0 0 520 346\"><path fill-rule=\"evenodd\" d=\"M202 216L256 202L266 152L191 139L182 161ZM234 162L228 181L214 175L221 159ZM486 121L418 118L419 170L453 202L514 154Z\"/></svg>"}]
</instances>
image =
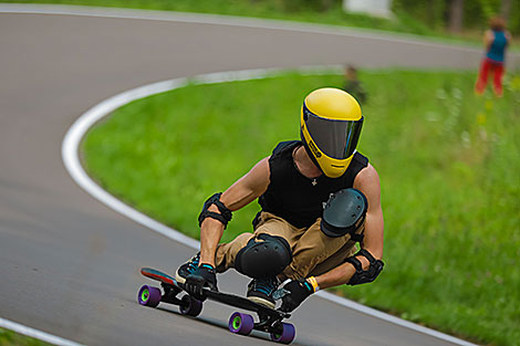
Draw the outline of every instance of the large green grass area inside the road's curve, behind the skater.
<instances>
[{"instance_id":1,"label":"large green grass area inside the road's curve, behind the skater","mask_svg":"<svg viewBox=\"0 0 520 346\"><path fill-rule=\"evenodd\" d=\"M370 92L360 151L379 172L385 262L364 304L465 338L520 345L520 75L503 98L474 95L472 73L362 72ZM298 138L303 96L339 75L189 85L134 102L83 144L112 193L198 238L204 200L275 143ZM250 231L256 202L225 241Z\"/></svg>"}]
</instances>

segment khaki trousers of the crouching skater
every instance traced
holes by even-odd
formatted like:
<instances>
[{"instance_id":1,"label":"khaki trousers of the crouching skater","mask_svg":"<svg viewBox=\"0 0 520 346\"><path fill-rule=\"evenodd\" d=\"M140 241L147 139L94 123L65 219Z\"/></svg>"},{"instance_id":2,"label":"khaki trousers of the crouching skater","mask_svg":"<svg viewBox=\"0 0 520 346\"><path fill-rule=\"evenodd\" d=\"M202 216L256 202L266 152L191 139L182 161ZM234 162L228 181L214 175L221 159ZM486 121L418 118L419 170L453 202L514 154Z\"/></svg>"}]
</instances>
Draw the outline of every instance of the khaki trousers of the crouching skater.
<instances>
[{"instance_id":1,"label":"khaki trousers of the crouching skater","mask_svg":"<svg viewBox=\"0 0 520 346\"><path fill-rule=\"evenodd\" d=\"M346 234L339 238L326 237L320 230L321 219L318 219L309 228L298 229L272 213L262 212L254 233L242 233L233 241L220 244L215 255L217 271L219 273L233 268L237 253L248 243L251 238L267 233L283 237L292 249L292 262L283 271L281 279L303 279L316 276L329 272L352 256L357 248ZM364 224L356 230L363 233Z\"/></svg>"}]
</instances>

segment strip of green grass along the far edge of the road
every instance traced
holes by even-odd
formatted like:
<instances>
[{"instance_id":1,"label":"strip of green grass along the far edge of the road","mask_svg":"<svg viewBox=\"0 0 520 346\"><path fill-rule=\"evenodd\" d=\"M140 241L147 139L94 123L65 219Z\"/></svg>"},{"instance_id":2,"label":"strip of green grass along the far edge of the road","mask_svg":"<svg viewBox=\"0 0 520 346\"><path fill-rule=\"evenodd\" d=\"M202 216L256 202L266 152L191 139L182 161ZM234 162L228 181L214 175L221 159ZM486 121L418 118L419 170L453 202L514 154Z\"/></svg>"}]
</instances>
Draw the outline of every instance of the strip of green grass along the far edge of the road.
<instances>
[{"instance_id":1,"label":"strip of green grass along the far edge of the road","mask_svg":"<svg viewBox=\"0 0 520 346\"><path fill-rule=\"evenodd\" d=\"M327 10L320 9L312 1L309 1L308 7L301 7L291 4L291 1L279 0L3 0L1 2L61 3L246 15L412 33L475 44L480 44L482 34L480 31L469 30L454 36L444 30L433 30L420 20L402 12L396 12L392 20L361 13L345 13L342 10L341 1L334 1Z\"/></svg>"}]
</instances>

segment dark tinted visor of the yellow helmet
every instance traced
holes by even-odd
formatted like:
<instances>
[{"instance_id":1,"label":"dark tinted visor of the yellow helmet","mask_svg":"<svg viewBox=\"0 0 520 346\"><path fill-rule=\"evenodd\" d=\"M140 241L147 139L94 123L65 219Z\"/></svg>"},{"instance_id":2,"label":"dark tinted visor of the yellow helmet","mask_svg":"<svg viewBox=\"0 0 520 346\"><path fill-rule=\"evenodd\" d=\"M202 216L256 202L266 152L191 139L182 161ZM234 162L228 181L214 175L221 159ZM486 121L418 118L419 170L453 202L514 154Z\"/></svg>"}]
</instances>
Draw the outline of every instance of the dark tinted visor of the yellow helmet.
<instances>
[{"instance_id":1,"label":"dark tinted visor of the yellow helmet","mask_svg":"<svg viewBox=\"0 0 520 346\"><path fill-rule=\"evenodd\" d=\"M363 126L363 117L358 120L325 119L303 106L303 119L318 148L326 156L346 159L354 154Z\"/></svg>"}]
</instances>

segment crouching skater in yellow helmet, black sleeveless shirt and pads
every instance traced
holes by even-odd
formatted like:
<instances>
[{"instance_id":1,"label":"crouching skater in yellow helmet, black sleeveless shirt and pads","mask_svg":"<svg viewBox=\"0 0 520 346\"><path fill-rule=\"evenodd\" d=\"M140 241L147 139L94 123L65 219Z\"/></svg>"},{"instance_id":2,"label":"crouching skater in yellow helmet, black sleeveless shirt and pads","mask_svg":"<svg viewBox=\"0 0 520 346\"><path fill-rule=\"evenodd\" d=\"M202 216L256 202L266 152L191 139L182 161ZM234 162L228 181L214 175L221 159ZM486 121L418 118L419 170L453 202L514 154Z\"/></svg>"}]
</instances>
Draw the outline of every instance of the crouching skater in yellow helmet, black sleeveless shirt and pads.
<instances>
[{"instance_id":1,"label":"crouching skater in yellow helmet, black sleeveless shirt and pads","mask_svg":"<svg viewBox=\"0 0 520 346\"><path fill-rule=\"evenodd\" d=\"M356 99L337 88L310 93L301 108L301 140L278 144L199 216L200 252L176 272L197 300L218 291L216 273L249 276L248 298L291 312L321 289L374 281L383 270L379 178L356 151L364 122ZM258 199L254 232L219 244L237 211ZM360 244L360 250L356 244ZM357 251L358 250L358 251Z\"/></svg>"}]
</instances>

